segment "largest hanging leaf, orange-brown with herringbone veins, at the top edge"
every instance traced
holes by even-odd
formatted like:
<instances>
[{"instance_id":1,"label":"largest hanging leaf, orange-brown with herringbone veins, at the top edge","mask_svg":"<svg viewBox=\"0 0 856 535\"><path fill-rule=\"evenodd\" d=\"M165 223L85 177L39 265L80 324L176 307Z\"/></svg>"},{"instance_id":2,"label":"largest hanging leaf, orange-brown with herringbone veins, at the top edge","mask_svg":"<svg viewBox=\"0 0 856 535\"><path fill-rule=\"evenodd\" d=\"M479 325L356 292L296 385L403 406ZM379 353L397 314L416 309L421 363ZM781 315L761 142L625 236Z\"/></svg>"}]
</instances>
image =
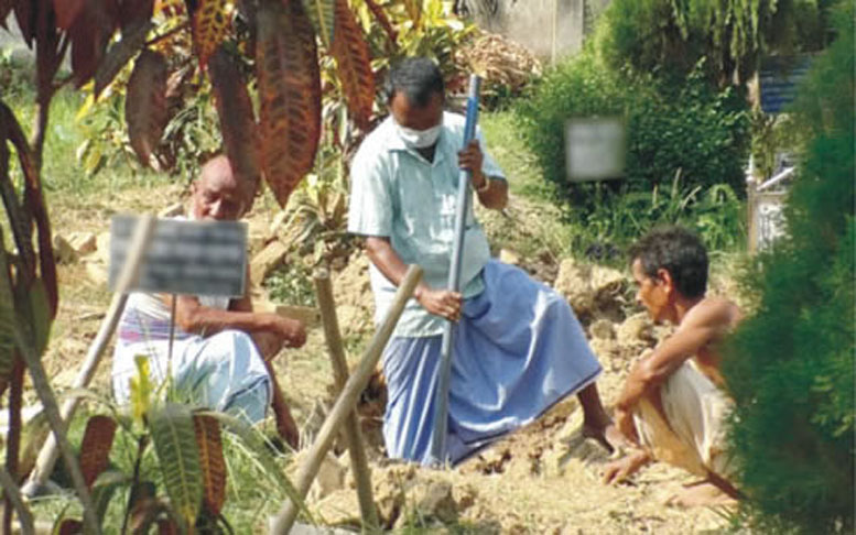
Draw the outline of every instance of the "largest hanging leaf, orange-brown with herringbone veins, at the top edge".
<instances>
[{"instance_id":1,"label":"largest hanging leaf, orange-brown with herringbone veins, at the top edge","mask_svg":"<svg viewBox=\"0 0 856 535\"><path fill-rule=\"evenodd\" d=\"M264 179L280 206L312 170L321 135L321 78L312 23L300 0L262 0L256 69Z\"/></svg>"}]
</instances>

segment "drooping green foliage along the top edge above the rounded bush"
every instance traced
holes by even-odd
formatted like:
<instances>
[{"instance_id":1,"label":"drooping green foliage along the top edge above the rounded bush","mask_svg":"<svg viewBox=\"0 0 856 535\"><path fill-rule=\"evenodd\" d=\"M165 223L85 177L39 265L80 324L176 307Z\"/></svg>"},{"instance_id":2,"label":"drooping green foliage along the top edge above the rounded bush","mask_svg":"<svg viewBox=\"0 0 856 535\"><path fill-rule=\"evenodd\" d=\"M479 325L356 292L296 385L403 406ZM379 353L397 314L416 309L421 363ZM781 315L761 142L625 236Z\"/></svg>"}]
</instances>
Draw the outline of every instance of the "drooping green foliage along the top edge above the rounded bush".
<instances>
[{"instance_id":1,"label":"drooping green foliage along the top edge above the rounded bush","mask_svg":"<svg viewBox=\"0 0 856 535\"><path fill-rule=\"evenodd\" d=\"M700 58L725 86L745 81L767 53L811 52L826 44L826 14L837 0L614 0L595 34L613 68L689 73Z\"/></svg>"}]
</instances>

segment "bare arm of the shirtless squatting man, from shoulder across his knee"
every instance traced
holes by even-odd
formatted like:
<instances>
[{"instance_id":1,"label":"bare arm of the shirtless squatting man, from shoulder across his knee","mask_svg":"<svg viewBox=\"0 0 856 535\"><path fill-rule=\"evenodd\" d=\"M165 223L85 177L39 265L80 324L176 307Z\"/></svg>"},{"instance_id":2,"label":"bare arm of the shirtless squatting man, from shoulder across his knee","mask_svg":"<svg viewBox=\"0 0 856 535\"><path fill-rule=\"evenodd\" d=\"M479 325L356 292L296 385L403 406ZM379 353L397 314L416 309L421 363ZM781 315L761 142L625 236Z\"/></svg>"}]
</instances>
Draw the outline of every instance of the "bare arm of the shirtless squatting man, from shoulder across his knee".
<instances>
[{"instance_id":1,"label":"bare arm of the shirtless squatting man, from shoulder across his knee","mask_svg":"<svg viewBox=\"0 0 856 535\"><path fill-rule=\"evenodd\" d=\"M660 386L686 359L717 340L733 321L727 302L705 301L686 315L674 335L663 340L646 359L637 362L625 382L616 407L628 412Z\"/></svg>"}]
</instances>

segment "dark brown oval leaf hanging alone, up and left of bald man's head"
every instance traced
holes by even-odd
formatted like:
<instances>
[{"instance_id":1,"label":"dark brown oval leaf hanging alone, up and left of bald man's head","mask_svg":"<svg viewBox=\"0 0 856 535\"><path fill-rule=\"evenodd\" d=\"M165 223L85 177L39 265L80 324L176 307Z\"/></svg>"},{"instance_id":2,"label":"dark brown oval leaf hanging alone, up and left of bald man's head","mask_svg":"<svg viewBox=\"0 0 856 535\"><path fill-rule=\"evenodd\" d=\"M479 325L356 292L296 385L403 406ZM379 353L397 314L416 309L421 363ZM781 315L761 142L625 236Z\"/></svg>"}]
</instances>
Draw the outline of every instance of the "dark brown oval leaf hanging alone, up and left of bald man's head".
<instances>
[{"instance_id":1,"label":"dark brown oval leaf hanging alone, up and left of bald man's head","mask_svg":"<svg viewBox=\"0 0 856 535\"><path fill-rule=\"evenodd\" d=\"M140 53L128 80L124 120L137 157L153 166L152 154L166 127L166 59L149 50Z\"/></svg>"}]
</instances>

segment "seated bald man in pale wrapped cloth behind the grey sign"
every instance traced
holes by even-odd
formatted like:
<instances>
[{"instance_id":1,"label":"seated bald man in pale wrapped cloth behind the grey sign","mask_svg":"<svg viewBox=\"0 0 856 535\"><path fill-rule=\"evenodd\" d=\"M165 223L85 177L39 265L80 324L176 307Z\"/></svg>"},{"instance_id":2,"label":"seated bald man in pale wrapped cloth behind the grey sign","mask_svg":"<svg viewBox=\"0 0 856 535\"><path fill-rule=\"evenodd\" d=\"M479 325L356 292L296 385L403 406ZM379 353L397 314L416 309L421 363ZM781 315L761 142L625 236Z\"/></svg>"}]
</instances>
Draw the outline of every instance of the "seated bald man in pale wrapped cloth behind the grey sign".
<instances>
[{"instance_id":1,"label":"seated bald man in pale wrapped cloth behind the grey sign","mask_svg":"<svg viewBox=\"0 0 856 535\"><path fill-rule=\"evenodd\" d=\"M237 220L246 211L246 197L226 156L216 156L192 185L192 220ZM137 374L136 357L149 360L151 380L166 379L186 401L240 415L250 423L264 419L273 406L282 438L297 447L297 427L277 383L270 360L283 347L303 346L303 325L275 314L257 313L247 292L239 299L180 295L175 334L169 360L172 296L132 293L122 314L112 384L116 398L127 403L129 381Z\"/></svg>"}]
</instances>

